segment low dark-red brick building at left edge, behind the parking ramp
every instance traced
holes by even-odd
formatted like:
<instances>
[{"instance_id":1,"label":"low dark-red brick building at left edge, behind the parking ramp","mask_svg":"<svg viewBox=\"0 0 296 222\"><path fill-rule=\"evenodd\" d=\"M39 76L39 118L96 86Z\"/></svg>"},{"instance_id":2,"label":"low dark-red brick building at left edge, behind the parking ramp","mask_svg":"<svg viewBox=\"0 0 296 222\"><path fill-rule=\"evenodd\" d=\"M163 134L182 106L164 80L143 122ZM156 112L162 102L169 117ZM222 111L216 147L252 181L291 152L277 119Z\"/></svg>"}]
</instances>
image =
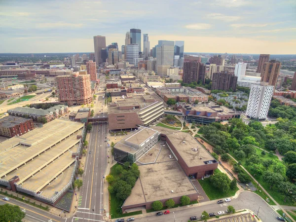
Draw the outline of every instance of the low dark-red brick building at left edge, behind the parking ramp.
<instances>
[{"instance_id":1,"label":"low dark-red brick building at left edge, behind the parking ramp","mask_svg":"<svg viewBox=\"0 0 296 222\"><path fill-rule=\"evenodd\" d=\"M0 119L0 136L2 137L21 136L33 129L32 119L11 115Z\"/></svg>"}]
</instances>

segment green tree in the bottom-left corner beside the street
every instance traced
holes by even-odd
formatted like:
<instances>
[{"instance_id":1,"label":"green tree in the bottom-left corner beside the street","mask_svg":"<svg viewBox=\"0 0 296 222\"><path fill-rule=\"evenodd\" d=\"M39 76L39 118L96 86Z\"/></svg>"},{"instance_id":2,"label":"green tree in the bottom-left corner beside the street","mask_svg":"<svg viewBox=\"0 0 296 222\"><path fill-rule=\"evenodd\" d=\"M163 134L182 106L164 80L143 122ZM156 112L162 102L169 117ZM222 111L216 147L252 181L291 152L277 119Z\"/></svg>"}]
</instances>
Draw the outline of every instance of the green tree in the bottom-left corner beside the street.
<instances>
[{"instance_id":1,"label":"green tree in the bottom-left corner beside the street","mask_svg":"<svg viewBox=\"0 0 296 222\"><path fill-rule=\"evenodd\" d=\"M0 207L1 222L22 222L26 214L17 205L4 204Z\"/></svg>"}]
</instances>

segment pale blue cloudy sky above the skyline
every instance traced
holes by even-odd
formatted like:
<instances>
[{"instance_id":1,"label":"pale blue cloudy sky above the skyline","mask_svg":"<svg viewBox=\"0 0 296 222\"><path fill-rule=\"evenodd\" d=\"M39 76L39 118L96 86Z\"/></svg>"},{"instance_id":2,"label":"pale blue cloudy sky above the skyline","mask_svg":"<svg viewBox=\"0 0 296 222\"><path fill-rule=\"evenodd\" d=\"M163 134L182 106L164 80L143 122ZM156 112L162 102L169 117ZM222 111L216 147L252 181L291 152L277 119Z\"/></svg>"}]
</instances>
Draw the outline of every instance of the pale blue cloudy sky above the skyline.
<instances>
[{"instance_id":1,"label":"pale blue cloudy sky above the skyline","mask_svg":"<svg viewBox=\"0 0 296 222\"><path fill-rule=\"evenodd\" d=\"M296 0L0 0L0 53L93 52L132 28L185 52L296 54Z\"/></svg>"}]
</instances>

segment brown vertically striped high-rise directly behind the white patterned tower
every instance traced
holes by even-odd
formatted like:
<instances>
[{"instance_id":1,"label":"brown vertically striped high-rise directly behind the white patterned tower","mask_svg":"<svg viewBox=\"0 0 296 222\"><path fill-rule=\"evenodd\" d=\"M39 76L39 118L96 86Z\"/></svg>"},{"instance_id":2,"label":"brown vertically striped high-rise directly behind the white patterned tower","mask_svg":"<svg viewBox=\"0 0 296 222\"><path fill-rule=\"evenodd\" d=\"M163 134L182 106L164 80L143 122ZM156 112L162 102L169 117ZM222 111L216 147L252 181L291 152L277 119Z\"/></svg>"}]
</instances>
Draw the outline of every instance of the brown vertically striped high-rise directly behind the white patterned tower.
<instances>
[{"instance_id":1,"label":"brown vertically striped high-rise directly behind the white patterned tower","mask_svg":"<svg viewBox=\"0 0 296 222\"><path fill-rule=\"evenodd\" d=\"M282 63L276 60L270 60L269 62L264 63L263 73L261 73L261 81L268 82L269 85L275 87L280 74L281 65Z\"/></svg>"}]
</instances>

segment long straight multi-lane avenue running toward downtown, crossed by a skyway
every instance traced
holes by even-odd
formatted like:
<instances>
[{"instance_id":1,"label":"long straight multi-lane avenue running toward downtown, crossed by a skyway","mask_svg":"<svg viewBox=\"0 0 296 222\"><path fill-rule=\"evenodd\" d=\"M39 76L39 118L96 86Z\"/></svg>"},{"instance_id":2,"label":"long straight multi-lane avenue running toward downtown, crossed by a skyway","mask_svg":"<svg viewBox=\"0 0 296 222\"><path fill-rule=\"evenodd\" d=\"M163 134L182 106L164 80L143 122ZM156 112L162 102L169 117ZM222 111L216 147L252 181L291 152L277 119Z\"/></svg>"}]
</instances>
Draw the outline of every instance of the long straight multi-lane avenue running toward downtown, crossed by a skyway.
<instances>
[{"instance_id":1,"label":"long straight multi-lane avenue running toward downtown, crossed by a skyway","mask_svg":"<svg viewBox=\"0 0 296 222\"><path fill-rule=\"evenodd\" d=\"M105 79L101 78L100 80L98 88L105 89ZM104 91L99 91L96 94L95 115L97 113L100 113L101 116L106 115L107 112L103 99ZM69 218L70 221L75 219L81 221L83 218L85 221L86 219L103 221L103 190L105 182L103 177L106 176L105 172L108 163L107 143L105 142L107 132L107 123L93 123L88 141L84 175L82 177L84 183L80 188L80 195L77 197L77 213L74 218Z\"/></svg>"}]
</instances>

